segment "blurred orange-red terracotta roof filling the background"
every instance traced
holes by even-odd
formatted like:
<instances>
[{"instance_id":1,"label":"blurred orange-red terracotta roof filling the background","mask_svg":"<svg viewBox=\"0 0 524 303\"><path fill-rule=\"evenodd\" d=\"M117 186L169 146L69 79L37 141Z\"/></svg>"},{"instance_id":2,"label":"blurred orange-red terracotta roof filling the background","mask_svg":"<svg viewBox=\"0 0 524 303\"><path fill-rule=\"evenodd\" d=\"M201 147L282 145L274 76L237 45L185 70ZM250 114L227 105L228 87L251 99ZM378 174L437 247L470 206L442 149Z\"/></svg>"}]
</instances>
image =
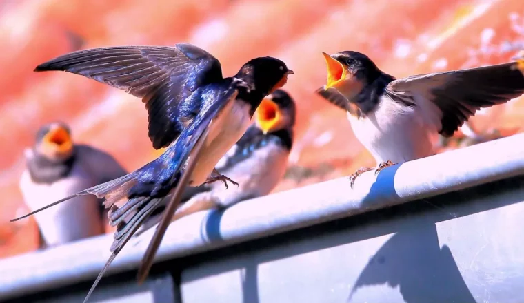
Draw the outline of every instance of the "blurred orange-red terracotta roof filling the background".
<instances>
[{"instance_id":1,"label":"blurred orange-red terracotta roof filling the background","mask_svg":"<svg viewBox=\"0 0 524 303\"><path fill-rule=\"evenodd\" d=\"M6 4L5 4L6 3ZM276 191L374 165L345 113L313 94L325 82L321 52L358 50L395 76L509 60L524 48L522 0L26 0L0 4L0 257L37 247L18 191L22 151L42 123L70 123L74 138L113 154L127 169L152 160L138 98L81 76L34 73L78 48L173 45L205 48L232 74L254 56L276 56L296 72L285 89L299 103L292 169ZM479 132L521 131L524 98L478 112ZM460 134L457 134L460 136ZM458 145L456 145L458 146ZM444 149L442 149L444 150Z\"/></svg>"}]
</instances>

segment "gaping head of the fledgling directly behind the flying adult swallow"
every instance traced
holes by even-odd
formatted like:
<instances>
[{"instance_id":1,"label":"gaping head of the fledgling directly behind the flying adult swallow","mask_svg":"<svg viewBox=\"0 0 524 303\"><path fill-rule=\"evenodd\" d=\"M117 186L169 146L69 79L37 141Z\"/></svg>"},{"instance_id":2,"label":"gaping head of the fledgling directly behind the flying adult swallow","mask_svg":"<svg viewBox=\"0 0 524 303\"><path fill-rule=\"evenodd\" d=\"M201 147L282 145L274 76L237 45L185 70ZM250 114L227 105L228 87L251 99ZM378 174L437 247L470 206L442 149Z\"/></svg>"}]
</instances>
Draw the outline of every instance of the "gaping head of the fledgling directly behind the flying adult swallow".
<instances>
[{"instance_id":1,"label":"gaping head of the fledgling directly behind the flying adult swallow","mask_svg":"<svg viewBox=\"0 0 524 303\"><path fill-rule=\"evenodd\" d=\"M296 108L293 99L283 90L266 96L256 109L255 125L268 134L281 129L292 129Z\"/></svg>"}]
</instances>

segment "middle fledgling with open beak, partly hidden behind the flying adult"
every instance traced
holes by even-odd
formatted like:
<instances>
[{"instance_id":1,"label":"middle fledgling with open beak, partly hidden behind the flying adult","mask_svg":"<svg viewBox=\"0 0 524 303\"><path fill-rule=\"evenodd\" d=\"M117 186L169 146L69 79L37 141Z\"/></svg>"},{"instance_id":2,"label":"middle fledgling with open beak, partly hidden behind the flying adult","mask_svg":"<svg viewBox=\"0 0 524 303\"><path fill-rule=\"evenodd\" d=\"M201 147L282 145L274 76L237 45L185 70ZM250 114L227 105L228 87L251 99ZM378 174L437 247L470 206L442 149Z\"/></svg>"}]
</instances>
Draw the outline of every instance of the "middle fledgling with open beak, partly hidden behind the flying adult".
<instances>
[{"instance_id":1,"label":"middle fledgling with open beak, partly hidden behind the flying adult","mask_svg":"<svg viewBox=\"0 0 524 303\"><path fill-rule=\"evenodd\" d=\"M293 144L295 103L283 90L275 90L263 99L255 112L254 123L240 140L216 164L216 170L238 180L238 187L220 183L185 189L172 221L205 209L223 209L237 202L269 194L284 176ZM143 224L140 232L160 220L159 207Z\"/></svg>"}]
</instances>

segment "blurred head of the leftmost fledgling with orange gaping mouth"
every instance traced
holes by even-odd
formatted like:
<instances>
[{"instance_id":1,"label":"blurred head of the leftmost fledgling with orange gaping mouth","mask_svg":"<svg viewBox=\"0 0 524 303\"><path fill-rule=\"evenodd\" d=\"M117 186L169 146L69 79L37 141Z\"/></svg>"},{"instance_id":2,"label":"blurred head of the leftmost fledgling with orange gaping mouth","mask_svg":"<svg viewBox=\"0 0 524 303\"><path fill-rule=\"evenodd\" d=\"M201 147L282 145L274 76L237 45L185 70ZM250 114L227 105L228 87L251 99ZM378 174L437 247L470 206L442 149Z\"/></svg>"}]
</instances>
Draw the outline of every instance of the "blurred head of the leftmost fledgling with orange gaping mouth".
<instances>
[{"instance_id":1,"label":"blurred head of the leftmost fledgling with orange gaping mouth","mask_svg":"<svg viewBox=\"0 0 524 303\"><path fill-rule=\"evenodd\" d=\"M50 160L66 160L72 156L74 145L66 123L53 122L37 131L36 151Z\"/></svg>"}]
</instances>

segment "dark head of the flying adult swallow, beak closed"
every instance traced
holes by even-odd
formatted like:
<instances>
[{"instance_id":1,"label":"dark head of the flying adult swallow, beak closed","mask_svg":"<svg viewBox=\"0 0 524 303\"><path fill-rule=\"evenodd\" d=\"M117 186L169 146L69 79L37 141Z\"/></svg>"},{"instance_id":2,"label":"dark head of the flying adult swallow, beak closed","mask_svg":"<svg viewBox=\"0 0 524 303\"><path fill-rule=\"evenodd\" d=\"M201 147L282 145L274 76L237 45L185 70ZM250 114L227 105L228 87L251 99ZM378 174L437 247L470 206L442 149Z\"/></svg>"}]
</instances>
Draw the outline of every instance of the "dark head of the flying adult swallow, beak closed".
<instances>
[{"instance_id":1,"label":"dark head of the flying adult swallow, beak closed","mask_svg":"<svg viewBox=\"0 0 524 303\"><path fill-rule=\"evenodd\" d=\"M254 90L265 96L283 87L290 74L294 72L283 61L265 56L245 63L236 74L236 78L246 81Z\"/></svg>"}]
</instances>

